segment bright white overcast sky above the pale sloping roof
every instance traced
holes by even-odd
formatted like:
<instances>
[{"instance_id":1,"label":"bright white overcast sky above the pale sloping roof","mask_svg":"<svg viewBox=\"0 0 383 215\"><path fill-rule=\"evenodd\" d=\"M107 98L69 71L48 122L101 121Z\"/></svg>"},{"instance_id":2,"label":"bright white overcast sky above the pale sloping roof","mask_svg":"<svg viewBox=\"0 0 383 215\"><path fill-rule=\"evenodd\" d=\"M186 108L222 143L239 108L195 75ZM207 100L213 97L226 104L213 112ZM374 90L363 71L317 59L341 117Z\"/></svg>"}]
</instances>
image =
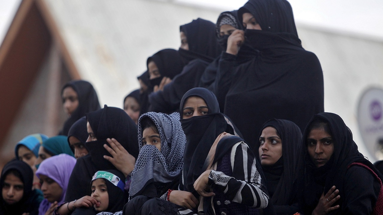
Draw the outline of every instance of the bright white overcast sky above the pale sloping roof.
<instances>
[{"instance_id":1,"label":"bright white overcast sky above the pale sloping roof","mask_svg":"<svg viewBox=\"0 0 383 215\"><path fill-rule=\"evenodd\" d=\"M172 0L221 10L235 10L246 0ZM21 0L0 0L0 41ZM113 2L113 1L112 1ZM296 23L375 37L383 41L383 0L289 0Z\"/></svg>"}]
</instances>

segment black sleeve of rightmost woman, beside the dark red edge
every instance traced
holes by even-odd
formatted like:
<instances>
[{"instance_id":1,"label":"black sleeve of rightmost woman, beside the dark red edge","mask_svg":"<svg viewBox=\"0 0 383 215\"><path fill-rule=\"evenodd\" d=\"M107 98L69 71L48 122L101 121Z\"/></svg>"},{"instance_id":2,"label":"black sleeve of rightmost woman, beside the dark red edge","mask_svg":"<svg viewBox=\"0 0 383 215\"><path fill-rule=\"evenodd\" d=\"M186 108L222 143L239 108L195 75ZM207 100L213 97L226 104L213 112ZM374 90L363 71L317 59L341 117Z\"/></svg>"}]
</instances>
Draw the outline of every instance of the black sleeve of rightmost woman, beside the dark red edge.
<instances>
[{"instance_id":1,"label":"black sleeve of rightmost woman, beside the dark red edge","mask_svg":"<svg viewBox=\"0 0 383 215\"><path fill-rule=\"evenodd\" d=\"M380 192L380 183L367 169L352 166L347 171L344 181L342 214L369 215Z\"/></svg>"}]
</instances>

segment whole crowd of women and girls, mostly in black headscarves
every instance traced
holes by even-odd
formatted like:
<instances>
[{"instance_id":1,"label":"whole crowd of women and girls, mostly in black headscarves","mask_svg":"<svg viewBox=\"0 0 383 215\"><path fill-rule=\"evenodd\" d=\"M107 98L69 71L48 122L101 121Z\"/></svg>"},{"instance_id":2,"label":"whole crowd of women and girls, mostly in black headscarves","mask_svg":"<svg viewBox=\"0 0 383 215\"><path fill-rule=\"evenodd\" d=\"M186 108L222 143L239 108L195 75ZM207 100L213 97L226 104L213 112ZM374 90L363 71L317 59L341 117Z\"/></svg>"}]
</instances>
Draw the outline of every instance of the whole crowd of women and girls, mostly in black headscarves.
<instances>
[{"instance_id":1,"label":"whole crowd of women and girls, mostly in black headscarves","mask_svg":"<svg viewBox=\"0 0 383 215\"><path fill-rule=\"evenodd\" d=\"M59 135L4 166L0 215L383 214L381 163L323 112L323 77L286 0L180 26L123 109L63 86Z\"/></svg>"}]
</instances>

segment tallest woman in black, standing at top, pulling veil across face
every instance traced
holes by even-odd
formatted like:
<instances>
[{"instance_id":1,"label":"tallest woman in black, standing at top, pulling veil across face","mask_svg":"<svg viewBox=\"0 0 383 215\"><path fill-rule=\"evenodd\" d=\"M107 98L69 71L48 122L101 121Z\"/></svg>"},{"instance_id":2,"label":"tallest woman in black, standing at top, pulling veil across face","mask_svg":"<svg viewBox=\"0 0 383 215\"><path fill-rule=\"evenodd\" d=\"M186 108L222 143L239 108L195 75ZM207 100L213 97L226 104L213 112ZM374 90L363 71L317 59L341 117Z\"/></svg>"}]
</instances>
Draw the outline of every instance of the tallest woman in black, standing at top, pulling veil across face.
<instances>
[{"instance_id":1,"label":"tallest woman in black, standing at top, pulling veil across face","mask_svg":"<svg viewBox=\"0 0 383 215\"><path fill-rule=\"evenodd\" d=\"M249 0L238 10L238 18L247 29L230 37L239 38L236 42L259 54L236 72L220 74L224 79L216 90L228 92L224 113L258 153L253 131L260 130L265 121L287 119L303 130L313 114L324 110L323 74L316 55L302 48L286 0ZM242 47L234 50L238 48Z\"/></svg>"}]
</instances>

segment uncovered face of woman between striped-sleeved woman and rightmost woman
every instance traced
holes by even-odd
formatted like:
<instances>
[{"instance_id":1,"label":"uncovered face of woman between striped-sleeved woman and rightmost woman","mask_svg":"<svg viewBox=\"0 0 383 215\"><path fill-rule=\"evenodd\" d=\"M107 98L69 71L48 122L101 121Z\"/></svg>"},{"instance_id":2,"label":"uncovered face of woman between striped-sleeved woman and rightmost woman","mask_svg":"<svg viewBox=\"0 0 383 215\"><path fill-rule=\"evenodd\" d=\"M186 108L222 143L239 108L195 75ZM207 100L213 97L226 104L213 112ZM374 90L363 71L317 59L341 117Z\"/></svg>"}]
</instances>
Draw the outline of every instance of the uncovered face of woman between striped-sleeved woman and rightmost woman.
<instances>
[{"instance_id":1,"label":"uncovered face of woman between striped-sleeved woman and rightmost woman","mask_svg":"<svg viewBox=\"0 0 383 215\"><path fill-rule=\"evenodd\" d=\"M259 137L261 165L273 165L282 157L282 139L273 127L265 127Z\"/></svg>"}]
</instances>

